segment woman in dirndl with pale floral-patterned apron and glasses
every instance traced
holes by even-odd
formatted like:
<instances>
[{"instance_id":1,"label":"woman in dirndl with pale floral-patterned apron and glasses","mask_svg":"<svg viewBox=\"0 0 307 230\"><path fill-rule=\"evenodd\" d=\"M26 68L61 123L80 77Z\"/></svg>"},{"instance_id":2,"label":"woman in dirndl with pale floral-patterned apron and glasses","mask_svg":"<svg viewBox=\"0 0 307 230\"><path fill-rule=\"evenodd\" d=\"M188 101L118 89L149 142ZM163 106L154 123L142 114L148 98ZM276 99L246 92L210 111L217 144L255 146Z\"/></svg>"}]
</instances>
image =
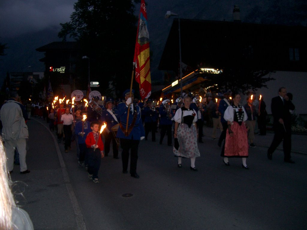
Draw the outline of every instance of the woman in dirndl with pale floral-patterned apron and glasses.
<instances>
[{"instance_id":1,"label":"woman in dirndl with pale floral-patterned apron and glasses","mask_svg":"<svg viewBox=\"0 0 307 230\"><path fill-rule=\"evenodd\" d=\"M197 115L194 109L190 109L192 98L186 96L183 98L184 107L179 108L174 116L175 128L174 138L178 139L178 146L173 147L173 152L178 157L178 167L181 168L181 158L190 158L190 169L197 171L195 167L195 158L200 156L197 147ZM176 140L175 140L176 141Z\"/></svg>"}]
</instances>

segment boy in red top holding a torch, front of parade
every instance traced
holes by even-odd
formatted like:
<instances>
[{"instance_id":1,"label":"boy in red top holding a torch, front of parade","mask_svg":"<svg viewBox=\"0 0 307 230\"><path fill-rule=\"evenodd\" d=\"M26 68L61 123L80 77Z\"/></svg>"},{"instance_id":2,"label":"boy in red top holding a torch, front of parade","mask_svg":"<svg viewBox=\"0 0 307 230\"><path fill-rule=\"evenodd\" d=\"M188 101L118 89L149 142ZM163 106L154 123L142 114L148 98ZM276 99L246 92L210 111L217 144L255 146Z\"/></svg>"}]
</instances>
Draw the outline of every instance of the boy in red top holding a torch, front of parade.
<instances>
[{"instance_id":1,"label":"boy in red top holding a torch, front of parade","mask_svg":"<svg viewBox=\"0 0 307 230\"><path fill-rule=\"evenodd\" d=\"M101 158L104 157L103 154L103 142L99 133L99 122L91 122L92 132L87 134L85 139L85 144L87 147L87 156L88 156L88 178L93 180L94 183L99 183L98 181L98 171L100 168ZM96 140L98 142L96 144Z\"/></svg>"}]
</instances>

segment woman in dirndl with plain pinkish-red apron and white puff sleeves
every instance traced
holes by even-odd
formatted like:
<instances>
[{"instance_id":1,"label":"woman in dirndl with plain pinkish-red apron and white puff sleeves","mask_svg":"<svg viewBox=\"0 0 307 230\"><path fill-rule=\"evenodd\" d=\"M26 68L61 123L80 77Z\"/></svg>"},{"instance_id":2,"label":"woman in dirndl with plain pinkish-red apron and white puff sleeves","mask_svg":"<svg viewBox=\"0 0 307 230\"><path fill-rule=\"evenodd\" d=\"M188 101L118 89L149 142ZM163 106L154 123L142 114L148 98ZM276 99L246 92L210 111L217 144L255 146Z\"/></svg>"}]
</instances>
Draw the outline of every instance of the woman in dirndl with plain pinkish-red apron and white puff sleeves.
<instances>
[{"instance_id":1,"label":"woman in dirndl with plain pinkish-red apron and white puff sleeves","mask_svg":"<svg viewBox=\"0 0 307 230\"><path fill-rule=\"evenodd\" d=\"M233 104L228 106L224 119L227 121L227 131L225 140L225 151L221 156L224 157L223 162L229 166L229 157L242 158L242 167L249 169L246 165L246 158L248 157L248 140L247 128L245 121L247 120L247 113L243 106L239 105L241 96L239 93L233 93Z\"/></svg>"}]
</instances>

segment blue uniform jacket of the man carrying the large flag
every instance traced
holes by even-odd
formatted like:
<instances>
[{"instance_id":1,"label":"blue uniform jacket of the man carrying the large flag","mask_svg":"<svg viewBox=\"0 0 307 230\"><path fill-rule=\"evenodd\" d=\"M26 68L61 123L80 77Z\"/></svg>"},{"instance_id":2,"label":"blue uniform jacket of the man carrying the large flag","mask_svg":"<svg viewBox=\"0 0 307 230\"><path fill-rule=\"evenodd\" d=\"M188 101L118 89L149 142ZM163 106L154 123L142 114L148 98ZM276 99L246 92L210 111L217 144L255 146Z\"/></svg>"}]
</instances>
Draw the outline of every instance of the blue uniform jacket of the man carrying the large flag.
<instances>
[{"instance_id":1,"label":"blue uniform jacket of the man carrying the large flag","mask_svg":"<svg viewBox=\"0 0 307 230\"><path fill-rule=\"evenodd\" d=\"M122 123L122 126L126 128L128 107L125 103L119 103L117 109L119 113L120 122ZM133 113L131 113L131 111L129 110L128 128L133 121L134 113L137 113L137 118L130 134L128 136L125 136L124 132L122 132L122 129L119 127L119 129L117 130L116 137L130 140L140 140L142 136L145 136L145 130L141 119L141 108L138 105L133 105Z\"/></svg>"}]
</instances>

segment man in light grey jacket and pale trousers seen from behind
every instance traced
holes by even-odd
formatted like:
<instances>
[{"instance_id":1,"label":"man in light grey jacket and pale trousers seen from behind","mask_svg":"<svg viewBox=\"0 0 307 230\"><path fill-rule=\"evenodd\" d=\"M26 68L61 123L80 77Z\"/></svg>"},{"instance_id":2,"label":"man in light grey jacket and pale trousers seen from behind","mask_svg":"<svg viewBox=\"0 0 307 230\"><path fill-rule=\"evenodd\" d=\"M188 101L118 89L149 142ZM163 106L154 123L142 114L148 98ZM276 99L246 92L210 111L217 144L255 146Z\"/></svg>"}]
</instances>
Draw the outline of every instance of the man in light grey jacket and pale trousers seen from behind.
<instances>
[{"instance_id":1,"label":"man in light grey jacket and pale trousers seen from behind","mask_svg":"<svg viewBox=\"0 0 307 230\"><path fill-rule=\"evenodd\" d=\"M25 163L26 140L29 138L28 127L22 115L21 103L17 102L16 91L10 92L10 99L2 105L0 110L0 120L2 121L2 140L4 141L7 170L13 171L14 152L17 148L19 153L20 173L25 174L30 171Z\"/></svg>"}]
</instances>

